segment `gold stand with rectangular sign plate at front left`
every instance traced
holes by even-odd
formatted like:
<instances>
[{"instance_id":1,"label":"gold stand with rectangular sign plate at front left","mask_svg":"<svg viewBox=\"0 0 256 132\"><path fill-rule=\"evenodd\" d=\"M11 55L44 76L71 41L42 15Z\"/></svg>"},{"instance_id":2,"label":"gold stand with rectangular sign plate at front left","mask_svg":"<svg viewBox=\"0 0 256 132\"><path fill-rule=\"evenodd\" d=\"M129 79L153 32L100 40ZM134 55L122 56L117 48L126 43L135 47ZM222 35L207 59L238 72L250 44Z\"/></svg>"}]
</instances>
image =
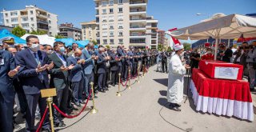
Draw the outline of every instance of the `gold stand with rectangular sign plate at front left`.
<instances>
[{"instance_id":1,"label":"gold stand with rectangular sign plate at front left","mask_svg":"<svg viewBox=\"0 0 256 132\"><path fill-rule=\"evenodd\" d=\"M52 111L52 103L53 103L53 97L56 96L56 89L45 89L40 90L42 98L46 98L47 106L49 108L49 120L50 120L50 126L51 131L54 132L54 117L53 117L53 111Z\"/></svg>"}]
</instances>

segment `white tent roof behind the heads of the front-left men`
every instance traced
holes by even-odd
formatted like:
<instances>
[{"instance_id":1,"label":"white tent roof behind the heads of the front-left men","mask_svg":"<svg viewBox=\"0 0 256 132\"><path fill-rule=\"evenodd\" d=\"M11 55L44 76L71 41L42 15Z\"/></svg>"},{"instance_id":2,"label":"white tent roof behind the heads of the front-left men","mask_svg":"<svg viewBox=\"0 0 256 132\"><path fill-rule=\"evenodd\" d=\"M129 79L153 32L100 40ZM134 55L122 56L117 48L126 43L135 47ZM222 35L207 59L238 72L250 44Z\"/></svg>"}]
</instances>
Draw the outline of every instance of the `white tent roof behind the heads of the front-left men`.
<instances>
[{"instance_id":1,"label":"white tent roof behind the heads of the front-left men","mask_svg":"<svg viewBox=\"0 0 256 132\"><path fill-rule=\"evenodd\" d=\"M34 35L34 34L25 34L23 35L21 38L26 40L26 37L29 35ZM54 46L54 42L55 42L55 38L54 37L50 37L47 34L43 34L43 35L35 35L38 37L40 44L44 45L50 45L50 46Z\"/></svg>"}]
</instances>

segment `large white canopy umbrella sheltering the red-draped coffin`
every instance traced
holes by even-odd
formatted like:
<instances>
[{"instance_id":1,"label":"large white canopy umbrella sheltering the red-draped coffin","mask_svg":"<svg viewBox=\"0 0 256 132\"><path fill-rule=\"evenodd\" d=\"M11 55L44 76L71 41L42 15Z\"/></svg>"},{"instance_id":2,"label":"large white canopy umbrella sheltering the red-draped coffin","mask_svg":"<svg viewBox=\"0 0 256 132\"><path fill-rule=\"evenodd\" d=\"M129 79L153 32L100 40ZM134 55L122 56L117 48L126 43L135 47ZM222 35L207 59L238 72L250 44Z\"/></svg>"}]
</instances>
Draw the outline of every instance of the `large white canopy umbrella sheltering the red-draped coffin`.
<instances>
[{"instance_id":1,"label":"large white canopy umbrella sheltering the red-draped coffin","mask_svg":"<svg viewBox=\"0 0 256 132\"><path fill-rule=\"evenodd\" d=\"M182 29L167 31L166 34L183 40L187 40L188 38L191 40L207 39L209 37L215 38L214 60L216 60L219 39L240 38L242 34L244 38L256 36L256 18L240 14L230 14L211 18Z\"/></svg>"}]
</instances>

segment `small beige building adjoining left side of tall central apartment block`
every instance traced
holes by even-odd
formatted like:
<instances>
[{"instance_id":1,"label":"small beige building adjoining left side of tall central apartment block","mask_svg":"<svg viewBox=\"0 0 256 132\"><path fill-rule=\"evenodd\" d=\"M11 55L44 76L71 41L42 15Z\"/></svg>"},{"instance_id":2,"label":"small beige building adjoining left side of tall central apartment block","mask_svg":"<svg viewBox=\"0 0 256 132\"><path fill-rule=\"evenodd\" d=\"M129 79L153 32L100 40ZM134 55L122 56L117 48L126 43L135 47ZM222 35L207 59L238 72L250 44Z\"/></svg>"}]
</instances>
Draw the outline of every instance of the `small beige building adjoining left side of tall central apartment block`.
<instances>
[{"instance_id":1,"label":"small beige building adjoining left side of tall central apartment block","mask_svg":"<svg viewBox=\"0 0 256 132\"><path fill-rule=\"evenodd\" d=\"M90 40L96 41L96 21L91 22L81 22L80 25L82 26L82 40Z\"/></svg>"}]
</instances>

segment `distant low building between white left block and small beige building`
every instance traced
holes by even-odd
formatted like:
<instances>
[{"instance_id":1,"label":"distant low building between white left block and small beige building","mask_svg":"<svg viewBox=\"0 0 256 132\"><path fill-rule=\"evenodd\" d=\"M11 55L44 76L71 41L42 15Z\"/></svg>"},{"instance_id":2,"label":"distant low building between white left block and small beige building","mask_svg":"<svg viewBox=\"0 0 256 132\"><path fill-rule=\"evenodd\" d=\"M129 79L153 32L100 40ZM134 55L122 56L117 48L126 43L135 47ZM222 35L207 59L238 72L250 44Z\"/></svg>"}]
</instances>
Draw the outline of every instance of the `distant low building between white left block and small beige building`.
<instances>
[{"instance_id":1,"label":"distant low building between white left block and small beige building","mask_svg":"<svg viewBox=\"0 0 256 132\"><path fill-rule=\"evenodd\" d=\"M82 30L74 27L72 23L63 23L59 26L59 35L66 38L73 38L75 41L82 40Z\"/></svg>"}]
</instances>

